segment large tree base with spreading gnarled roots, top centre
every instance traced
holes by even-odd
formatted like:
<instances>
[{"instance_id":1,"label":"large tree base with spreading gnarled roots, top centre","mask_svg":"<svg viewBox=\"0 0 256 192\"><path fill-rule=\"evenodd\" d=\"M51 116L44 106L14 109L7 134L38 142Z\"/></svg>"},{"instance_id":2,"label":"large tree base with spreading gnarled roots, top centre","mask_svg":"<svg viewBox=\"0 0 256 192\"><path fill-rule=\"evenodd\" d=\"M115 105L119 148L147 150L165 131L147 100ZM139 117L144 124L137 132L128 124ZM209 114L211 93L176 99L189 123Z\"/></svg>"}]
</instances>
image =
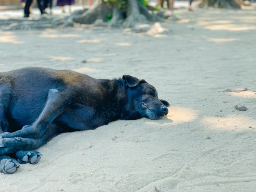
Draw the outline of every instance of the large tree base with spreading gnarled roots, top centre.
<instances>
[{"instance_id":1,"label":"large tree base with spreading gnarled roots, top centre","mask_svg":"<svg viewBox=\"0 0 256 192\"><path fill-rule=\"evenodd\" d=\"M112 19L107 25L111 27L117 27L122 24L124 28L134 28L138 24L148 24L148 21L165 21L164 18L154 14L152 11L149 12L149 9L154 10L151 6L143 6L139 0L126 0L126 6L121 9L109 2L97 2L93 8L72 14L64 26L72 26L73 22L93 24L97 19L105 21L109 14L112 14Z\"/></svg>"}]
</instances>

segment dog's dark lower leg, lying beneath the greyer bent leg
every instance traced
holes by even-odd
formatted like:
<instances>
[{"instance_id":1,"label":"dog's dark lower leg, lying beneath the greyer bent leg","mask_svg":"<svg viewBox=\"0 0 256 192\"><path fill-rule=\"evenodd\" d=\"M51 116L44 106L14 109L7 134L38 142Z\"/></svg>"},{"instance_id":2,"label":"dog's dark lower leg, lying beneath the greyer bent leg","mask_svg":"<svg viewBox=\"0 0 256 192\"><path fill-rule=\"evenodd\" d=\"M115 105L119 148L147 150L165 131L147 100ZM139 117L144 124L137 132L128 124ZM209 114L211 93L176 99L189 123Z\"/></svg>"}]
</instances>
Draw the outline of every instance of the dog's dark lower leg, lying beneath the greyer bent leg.
<instances>
[{"instance_id":1,"label":"dog's dark lower leg, lying beneath the greyer bent leg","mask_svg":"<svg viewBox=\"0 0 256 192\"><path fill-rule=\"evenodd\" d=\"M18 151L31 151L39 148L49 140L62 132L62 128L56 124L50 124L49 128L38 139L31 138L0 138L0 155L16 153ZM31 153L31 152L30 152ZM34 154L34 153L33 153ZM40 155L40 154L38 154ZM18 153L17 157L21 158L22 154ZM26 156L26 155L24 155ZM23 156L23 157L24 157ZM22 157L22 159L23 159ZM20 160L22 160L20 159ZM25 160L25 159L24 159ZM25 162L25 161L24 161ZM31 161L30 161L31 162ZM33 160L32 160L33 162Z\"/></svg>"}]
</instances>

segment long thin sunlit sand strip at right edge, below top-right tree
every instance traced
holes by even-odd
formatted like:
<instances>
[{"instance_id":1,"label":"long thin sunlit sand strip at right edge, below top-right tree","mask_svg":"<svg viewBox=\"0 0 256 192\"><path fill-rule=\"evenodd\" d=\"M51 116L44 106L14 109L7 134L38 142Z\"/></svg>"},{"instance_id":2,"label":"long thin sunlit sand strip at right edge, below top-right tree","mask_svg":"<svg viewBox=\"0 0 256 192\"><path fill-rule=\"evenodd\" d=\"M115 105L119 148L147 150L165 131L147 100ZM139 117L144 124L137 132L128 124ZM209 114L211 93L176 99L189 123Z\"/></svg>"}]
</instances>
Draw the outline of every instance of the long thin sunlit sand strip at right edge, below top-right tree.
<instances>
[{"instance_id":1,"label":"long thin sunlit sand strip at right edge, below top-right tree","mask_svg":"<svg viewBox=\"0 0 256 192\"><path fill-rule=\"evenodd\" d=\"M210 25L205 26L205 29L212 31L226 30L226 31L246 31L246 30L256 30L256 26L248 25Z\"/></svg>"}]
</instances>

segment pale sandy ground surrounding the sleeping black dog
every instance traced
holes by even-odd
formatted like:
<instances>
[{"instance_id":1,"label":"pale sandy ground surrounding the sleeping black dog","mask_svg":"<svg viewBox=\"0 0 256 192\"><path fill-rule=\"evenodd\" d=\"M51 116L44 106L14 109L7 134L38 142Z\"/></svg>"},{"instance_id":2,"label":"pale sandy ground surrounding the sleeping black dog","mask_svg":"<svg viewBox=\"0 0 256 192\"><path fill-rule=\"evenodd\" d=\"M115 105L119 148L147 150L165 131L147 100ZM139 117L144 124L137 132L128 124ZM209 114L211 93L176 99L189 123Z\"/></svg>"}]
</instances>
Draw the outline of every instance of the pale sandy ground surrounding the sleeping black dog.
<instances>
[{"instance_id":1,"label":"pale sandy ground surrounding the sleeping black dog","mask_svg":"<svg viewBox=\"0 0 256 192\"><path fill-rule=\"evenodd\" d=\"M163 24L168 36L104 28L0 32L1 72L41 66L94 78L130 74L171 104L161 120L119 120L57 136L38 149L38 164L0 174L0 191L256 191L256 12L181 16Z\"/></svg>"}]
</instances>

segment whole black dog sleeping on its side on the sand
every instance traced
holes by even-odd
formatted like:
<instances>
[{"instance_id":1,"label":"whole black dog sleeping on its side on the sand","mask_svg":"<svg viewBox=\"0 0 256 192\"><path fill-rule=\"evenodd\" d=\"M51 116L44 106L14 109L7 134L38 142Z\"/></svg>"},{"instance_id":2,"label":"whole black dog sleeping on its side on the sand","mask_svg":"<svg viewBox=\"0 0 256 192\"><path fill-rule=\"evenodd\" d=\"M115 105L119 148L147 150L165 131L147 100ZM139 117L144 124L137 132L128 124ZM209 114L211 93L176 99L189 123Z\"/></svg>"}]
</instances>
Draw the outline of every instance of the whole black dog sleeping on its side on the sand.
<instances>
[{"instance_id":1,"label":"whole black dog sleeping on its side on the sand","mask_svg":"<svg viewBox=\"0 0 256 192\"><path fill-rule=\"evenodd\" d=\"M32 150L62 132L118 119L159 119L168 114L166 106L152 85L129 75L94 79L47 68L0 73L0 171L13 173L18 162L37 163L42 154Z\"/></svg>"}]
</instances>

